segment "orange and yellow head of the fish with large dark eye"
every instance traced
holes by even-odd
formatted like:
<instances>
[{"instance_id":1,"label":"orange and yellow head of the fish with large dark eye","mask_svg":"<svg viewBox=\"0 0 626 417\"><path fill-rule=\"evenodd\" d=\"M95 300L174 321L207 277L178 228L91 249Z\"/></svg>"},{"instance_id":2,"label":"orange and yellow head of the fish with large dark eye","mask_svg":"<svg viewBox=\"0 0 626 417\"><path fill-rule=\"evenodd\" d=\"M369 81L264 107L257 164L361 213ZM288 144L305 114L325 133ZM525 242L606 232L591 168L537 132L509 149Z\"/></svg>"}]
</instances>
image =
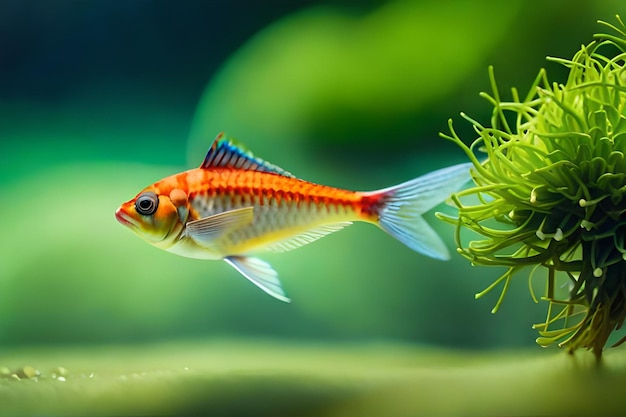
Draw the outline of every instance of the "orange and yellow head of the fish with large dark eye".
<instances>
[{"instance_id":1,"label":"orange and yellow head of the fish with large dark eye","mask_svg":"<svg viewBox=\"0 0 626 417\"><path fill-rule=\"evenodd\" d=\"M148 243L167 249L184 229L186 205L186 194L181 190L163 193L148 187L123 203L115 218Z\"/></svg>"}]
</instances>

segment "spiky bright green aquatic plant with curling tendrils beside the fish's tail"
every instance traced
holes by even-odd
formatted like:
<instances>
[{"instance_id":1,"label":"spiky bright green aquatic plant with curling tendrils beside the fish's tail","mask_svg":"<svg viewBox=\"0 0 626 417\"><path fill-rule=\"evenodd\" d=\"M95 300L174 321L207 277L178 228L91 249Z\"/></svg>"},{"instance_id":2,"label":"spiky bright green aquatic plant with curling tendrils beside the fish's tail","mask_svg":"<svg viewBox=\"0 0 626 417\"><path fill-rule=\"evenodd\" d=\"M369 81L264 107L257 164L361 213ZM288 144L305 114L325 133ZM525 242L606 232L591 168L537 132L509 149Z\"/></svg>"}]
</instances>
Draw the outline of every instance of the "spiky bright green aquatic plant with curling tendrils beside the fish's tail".
<instances>
[{"instance_id":1,"label":"spiky bright green aquatic plant with curling tendrils beside the fish's tail","mask_svg":"<svg viewBox=\"0 0 626 417\"><path fill-rule=\"evenodd\" d=\"M512 89L503 101L490 68L493 93L481 94L493 105L490 126L462 114L478 138L465 145L452 121L442 134L473 161L474 186L453 195L458 217L440 217L456 225L458 252L473 265L506 268L476 297L501 285L496 312L523 270L537 301L532 277L543 267L537 343L598 358L626 317L626 26L617 21L599 22L615 34L594 35L571 60L549 58L569 69L565 84L542 69L525 97ZM464 243L464 229L480 237Z\"/></svg>"}]
</instances>

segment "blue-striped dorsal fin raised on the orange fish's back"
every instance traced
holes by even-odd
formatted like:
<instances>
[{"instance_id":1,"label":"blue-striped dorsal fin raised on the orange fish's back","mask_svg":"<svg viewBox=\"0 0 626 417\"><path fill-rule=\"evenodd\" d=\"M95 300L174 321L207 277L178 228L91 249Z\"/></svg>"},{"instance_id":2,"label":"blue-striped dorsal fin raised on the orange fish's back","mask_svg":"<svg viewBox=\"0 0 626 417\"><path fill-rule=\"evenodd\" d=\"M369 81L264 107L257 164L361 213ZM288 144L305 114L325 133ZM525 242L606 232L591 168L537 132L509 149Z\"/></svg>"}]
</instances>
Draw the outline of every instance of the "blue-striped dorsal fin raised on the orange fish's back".
<instances>
[{"instance_id":1,"label":"blue-striped dorsal fin raised on the orange fish's back","mask_svg":"<svg viewBox=\"0 0 626 417\"><path fill-rule=\"evenodd\" d=\"M252 152L243 146L236 145L224 133L217 135L200 168L232 168L245 171L271 172L284 177L295 178L293 174L284 169L252 155Z\"/></svg>"}]
</instances>

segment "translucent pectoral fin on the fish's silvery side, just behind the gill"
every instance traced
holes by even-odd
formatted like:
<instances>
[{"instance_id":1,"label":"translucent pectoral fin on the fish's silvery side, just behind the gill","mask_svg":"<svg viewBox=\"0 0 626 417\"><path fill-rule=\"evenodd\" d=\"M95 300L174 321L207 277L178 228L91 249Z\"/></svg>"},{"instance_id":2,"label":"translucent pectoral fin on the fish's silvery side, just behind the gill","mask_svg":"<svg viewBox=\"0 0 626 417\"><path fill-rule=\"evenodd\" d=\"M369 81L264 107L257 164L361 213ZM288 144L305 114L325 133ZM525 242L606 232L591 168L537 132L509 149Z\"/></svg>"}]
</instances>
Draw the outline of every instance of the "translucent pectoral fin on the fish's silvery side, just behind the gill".
<instances>
[{"instance_id":1,"label":"translucent pectoral fin on the fish's silvery side, just behind the gill","mask_svg":"<svg viewBox=\"0 0 626 417\"><path fill-rule=\"evenodd\" d=\"M209 246L215 239L246 226L254 220L254 207L224 211L187 223L185 234L201 246Z\"/></svg>"}]
</instances>

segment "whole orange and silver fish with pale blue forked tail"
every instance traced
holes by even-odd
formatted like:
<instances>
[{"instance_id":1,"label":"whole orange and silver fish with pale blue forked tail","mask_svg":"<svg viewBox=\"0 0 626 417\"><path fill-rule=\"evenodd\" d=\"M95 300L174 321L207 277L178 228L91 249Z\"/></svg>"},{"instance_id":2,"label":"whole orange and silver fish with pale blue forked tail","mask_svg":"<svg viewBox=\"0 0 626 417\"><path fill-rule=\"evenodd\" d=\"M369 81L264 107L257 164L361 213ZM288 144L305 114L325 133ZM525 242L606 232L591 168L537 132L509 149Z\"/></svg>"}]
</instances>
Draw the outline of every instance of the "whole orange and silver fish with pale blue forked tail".
<instances>
[{"instance_id":1,"label":"whole orange and silver fish with pale blue forked tail","mask_svg":"<svg viewBox=\"0 0 626 417\"><path fill-rule=\"evenodd\" d=\"M469 181L471 166L453 165L376 191L350 191L299 179L220 133L200 167L147 186L115 217L157 248L223 260L289 302L278 273L258 254L299 248L353 222L374 224L416 252L449 259L422 214Z\"/></svg>"}]
</instances>

